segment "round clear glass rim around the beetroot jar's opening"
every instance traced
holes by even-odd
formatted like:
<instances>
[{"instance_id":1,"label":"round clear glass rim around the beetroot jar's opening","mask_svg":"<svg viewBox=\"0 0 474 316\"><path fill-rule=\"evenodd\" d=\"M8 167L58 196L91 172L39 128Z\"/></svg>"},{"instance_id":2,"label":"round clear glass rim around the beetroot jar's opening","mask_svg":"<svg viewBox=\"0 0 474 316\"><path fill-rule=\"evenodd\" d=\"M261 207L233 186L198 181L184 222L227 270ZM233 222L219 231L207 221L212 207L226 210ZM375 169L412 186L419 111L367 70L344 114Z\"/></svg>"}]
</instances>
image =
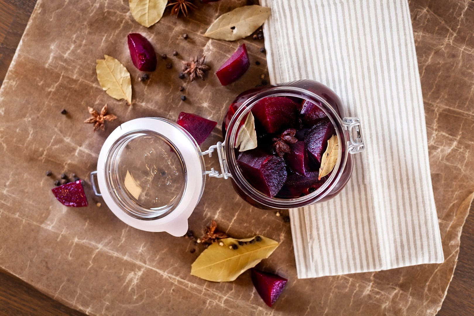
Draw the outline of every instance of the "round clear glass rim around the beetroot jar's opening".
<instances>
[{"instance_id":1,"label":"round clear glass rim around the beetroot jar's opening","mask_svg":"<svg viewBox=\"0 0 474 316\"><path fill-rule=\"evenodd\" d=\"M235 148L232 144L235 144L235 139L238 134L238 126L241 120L246 117L246 114L255 106L255 104L261 99L268 97L297 97L300 99L306 99L310 102L318 102L321 106L320 108L326 113L329 117L331 123L334 125L336 135L339 142L339 150L337 163L334 166L333 172L331 172L329 178L325 183L316 191L300 197L293 199L280 199L280 198L269 198L260 191L256 190L243 176L240 168L238 168L237 157L235 154ZM228 125L228 130L225 137L226 144L226 158L229 160L228 168L232 174L232 178L236 182L237 186L243 190L247 195L251 196L257 202L262 203L265 206L272 208L299 208L306 206L312 203L315 203L323 199L330 190L337 184L344 167L347 161L347 135L344 130L344 123L342 118L338 115L336 110L321 96L315 94L309 90L301 89L293 86L272 86L264 90L258 91L254 96L250 97L238 108L237 112L234 114L230 123Z\"/></svg>"}]
</instances>

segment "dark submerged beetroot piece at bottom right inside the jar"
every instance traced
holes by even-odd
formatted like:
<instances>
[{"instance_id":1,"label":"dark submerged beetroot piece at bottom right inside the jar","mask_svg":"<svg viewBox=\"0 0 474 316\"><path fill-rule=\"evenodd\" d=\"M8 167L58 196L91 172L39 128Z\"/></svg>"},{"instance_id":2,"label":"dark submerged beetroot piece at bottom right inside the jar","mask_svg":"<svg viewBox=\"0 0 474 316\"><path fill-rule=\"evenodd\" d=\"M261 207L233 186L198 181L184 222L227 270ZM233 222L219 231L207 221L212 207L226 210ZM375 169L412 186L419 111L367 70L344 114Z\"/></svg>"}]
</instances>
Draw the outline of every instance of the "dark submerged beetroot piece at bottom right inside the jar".
<instances>
[{"instance_id":1,"label":"dark submerged beetroot piece at bottom right inside the jar","mask_svg":"<svg viewBox=\"0 0 474 316\"><path fill-rule=\"evenodd\" d=\"M306 175L292 173L286 178L285 184L283 185L280 192L278 192L278 198L291 199L299 198L302 194L309 194L311 191L318 190L320 186L328 180L328 176L318 180L319 172L306 172Z\"/></svg>"}]
</instances>

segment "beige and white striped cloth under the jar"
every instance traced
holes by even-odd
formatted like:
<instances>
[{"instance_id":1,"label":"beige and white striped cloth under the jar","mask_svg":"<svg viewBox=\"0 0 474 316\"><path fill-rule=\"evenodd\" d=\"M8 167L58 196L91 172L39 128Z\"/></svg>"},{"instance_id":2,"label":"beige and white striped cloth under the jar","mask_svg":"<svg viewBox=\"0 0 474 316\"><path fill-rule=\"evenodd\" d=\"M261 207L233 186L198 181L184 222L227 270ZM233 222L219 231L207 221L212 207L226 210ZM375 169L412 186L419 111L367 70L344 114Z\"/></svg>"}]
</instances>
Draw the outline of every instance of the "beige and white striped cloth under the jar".
<instances>
[{"instance_id":1,"label":"beige and white striped cloth under the jar","mask_svg":"<svg viewBox=\"0 0 474 316\"><path fill-rule=\"evenodd\" d=\"M272 83L313 79L366 150L333 200L290 211L299 278L444 261L407 0L261 0Z\"/></svg>"}]
</instances>

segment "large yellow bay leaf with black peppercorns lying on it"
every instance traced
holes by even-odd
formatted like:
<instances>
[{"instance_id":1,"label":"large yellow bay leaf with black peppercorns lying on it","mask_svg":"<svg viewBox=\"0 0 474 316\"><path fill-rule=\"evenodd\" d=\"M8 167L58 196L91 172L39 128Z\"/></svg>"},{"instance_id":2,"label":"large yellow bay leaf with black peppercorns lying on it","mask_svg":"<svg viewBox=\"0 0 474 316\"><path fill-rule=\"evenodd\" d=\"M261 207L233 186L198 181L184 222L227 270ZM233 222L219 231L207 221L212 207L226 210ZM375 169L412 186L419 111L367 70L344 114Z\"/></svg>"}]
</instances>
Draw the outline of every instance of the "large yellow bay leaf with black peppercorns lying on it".
<instances>
[{"instance_id":1,"label":"large yellow bay leaf with black peppercorns lying on it","mask_svg":"<svg viewBox=\"0 0 474 316\"><path fill-rule=\"evenodd\" d=\"M280 244L273 239L259 236L246 239L225 238L211 244L191 265L191 275L213 282L237 279L246 270L268 258ZM250 241L253 240L252 243ZM239 241L244 243L239 245ZM219 242L224 243L223 246ZM232 246L237 246L233 249ZM229 248L230 246L230 248Z\"/></svg>"}]
</instances>

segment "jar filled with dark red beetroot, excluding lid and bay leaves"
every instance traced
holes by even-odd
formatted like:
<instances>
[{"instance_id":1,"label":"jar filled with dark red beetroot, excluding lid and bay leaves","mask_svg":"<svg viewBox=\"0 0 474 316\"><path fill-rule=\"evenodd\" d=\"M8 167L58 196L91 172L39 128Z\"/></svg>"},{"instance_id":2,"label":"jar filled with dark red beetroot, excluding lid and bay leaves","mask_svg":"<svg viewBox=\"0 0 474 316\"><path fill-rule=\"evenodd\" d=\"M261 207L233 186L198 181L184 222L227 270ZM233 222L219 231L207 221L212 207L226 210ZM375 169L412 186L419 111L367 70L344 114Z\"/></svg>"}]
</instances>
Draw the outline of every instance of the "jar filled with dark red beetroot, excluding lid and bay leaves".
<instances>
[{"instance_id":1,"label":"jar filled with dark red beetroot, excluding lid and bay leaves","mask_svg":"<svg viewBox=\"0 0 474 316\"><path fill-rule=\"evenodd\" d=\"M241 197L261 208L293 208L330 199L344 188L353 166L348 153L363 149L363 143L360 129L358 140L350 137L352 119L344 121L345 108L332 90L305 80L241 93L223 122L227 144L236 144L232 136L245 121L236 116L244 118L247 112L254 116L257 147L244 152L238 146L226 148L235 159L227 161L230 172L237 173L232 178ZM337 163L319 177L322 156L333 136L339 143Z\"/></svg>"}]
</instances>

